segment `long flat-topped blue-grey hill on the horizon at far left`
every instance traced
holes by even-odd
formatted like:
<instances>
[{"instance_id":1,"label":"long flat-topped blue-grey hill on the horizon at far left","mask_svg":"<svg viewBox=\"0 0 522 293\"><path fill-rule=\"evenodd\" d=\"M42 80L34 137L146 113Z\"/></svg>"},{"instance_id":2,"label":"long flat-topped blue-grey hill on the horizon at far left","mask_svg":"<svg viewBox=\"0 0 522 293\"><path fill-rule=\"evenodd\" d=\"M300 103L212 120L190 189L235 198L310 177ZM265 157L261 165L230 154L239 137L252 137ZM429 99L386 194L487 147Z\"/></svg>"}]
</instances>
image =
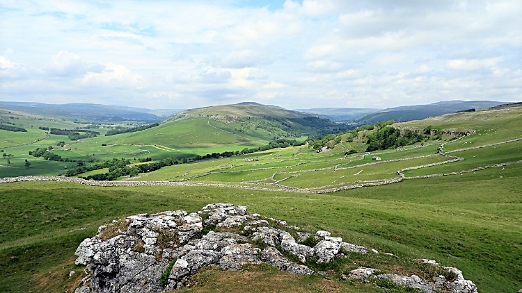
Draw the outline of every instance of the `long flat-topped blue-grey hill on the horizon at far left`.
<instances>
[{"instance_id":1,"label":"long flat-topped blue-grey hill on the horizon at far left","mask_svg":"<svg viewBox=\"0 0 522 293\"><path fill-rule=\"evenodd\" d=\"M134 121L153 123L161 122L165 116L172 115L178 111L106 106L93 103L47 104L13 101L0 101L0 108L82 122Z\"/></svg>"}]
</instances>

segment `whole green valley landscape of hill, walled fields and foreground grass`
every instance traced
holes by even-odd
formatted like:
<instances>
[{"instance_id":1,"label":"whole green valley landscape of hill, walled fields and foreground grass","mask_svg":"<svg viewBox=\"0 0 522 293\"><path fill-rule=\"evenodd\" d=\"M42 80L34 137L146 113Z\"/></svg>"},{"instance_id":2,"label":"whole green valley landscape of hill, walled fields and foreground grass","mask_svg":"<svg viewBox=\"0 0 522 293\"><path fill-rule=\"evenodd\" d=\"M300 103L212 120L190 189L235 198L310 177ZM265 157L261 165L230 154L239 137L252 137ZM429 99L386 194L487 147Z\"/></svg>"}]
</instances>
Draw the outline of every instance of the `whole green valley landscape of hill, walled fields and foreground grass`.
<instances>
[{"instance_id":1,"label":"whole green valley landscape of hill, walled fields and foreground grass","mask_svg":"<svg viewBox=\"0 0 522 293\"><path fill-rule=\"evenodd\" d=\"M349 129L247 103L182 111L158 126L109 136L116 126L139 124L75 123L13 110L1 110L0 117L27 130L0 130L6 154L0 158L0 181L6 182L0 184L6 215L2 291L71 291L79 281L67 277L79 270L74 250L101 224L141 212L196 211L216 202L245 205L305 231L332 231L397 256L350 254L351 265L325 279L251 271L263 278L284 276L294 290L324 291L326 280L343 292L381 292L337 274L361 265L401 271L414 258L458 267L479 292L516 292L522 286L521 106ZM73 141L40 126L100 134ZM64 160L29 155L37 148ZM128 160L118 168L131 173L113 181L76 178L111 174L113 165L45 182L13 178L58 176L116 159ZM137 171L160 162L154 171ZM215 270L201 274L196 278L227 276ZM192 290L211 292L208 284Z\"/></svg>"}]
</instances>

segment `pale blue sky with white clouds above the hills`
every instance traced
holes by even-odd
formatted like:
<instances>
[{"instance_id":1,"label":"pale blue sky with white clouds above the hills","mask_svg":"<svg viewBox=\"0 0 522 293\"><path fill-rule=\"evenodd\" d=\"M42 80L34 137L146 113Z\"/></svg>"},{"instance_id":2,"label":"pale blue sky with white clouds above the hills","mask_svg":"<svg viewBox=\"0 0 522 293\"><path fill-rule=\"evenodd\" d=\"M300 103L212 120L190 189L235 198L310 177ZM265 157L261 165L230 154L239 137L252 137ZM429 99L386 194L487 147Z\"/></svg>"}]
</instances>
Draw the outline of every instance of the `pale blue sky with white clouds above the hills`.
<instances>
[{"instance_id":1,"label":"pale blue sky with white clouds above the hills","mask_svg":"<svg viewBox=\"0 0 522 293\"><path fill-rule=\"evenodd\" d=\"M0 101L522 101L522 1L0 2Z\"/></svg>"}]
</instances>

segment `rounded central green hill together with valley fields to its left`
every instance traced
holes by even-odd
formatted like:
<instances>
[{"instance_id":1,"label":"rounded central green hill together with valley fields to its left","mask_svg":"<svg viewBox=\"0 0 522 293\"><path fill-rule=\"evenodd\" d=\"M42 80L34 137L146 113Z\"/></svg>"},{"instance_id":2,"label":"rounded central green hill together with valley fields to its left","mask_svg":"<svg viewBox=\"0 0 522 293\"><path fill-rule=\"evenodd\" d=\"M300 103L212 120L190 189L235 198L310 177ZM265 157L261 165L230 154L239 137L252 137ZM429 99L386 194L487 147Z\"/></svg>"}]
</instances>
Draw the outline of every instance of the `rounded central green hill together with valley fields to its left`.
<instances>
[{"instance_id":1,"label":"rounded central green hill together with valley fields to its left","mask_svg":"<svg viewBox=\"0 0 522 293\"><path fill-rule=\"evenodd\" d=\"M58 117L37 119L28 112L5 112L5 127L24 126L29 131L15 133L0 129L0 137L6 137L0 141L0 149L10 155L8 161L0 161L0 177L65 174L77 167L75 162L79 162L78 166L91 166L113 158L129 158L133 163L164 159L181 162L212 153L259 150L269 144L303 144L309 136L344 129L327 119L256 103L187 110L159 126L128 133L126 129L143 124L82 124ZM11 119L14 114L9 112L17 112L18 116ZM49 134L47 128L61 131ZM115 130L122 133L105 136ZM85 131L99 135L82 135ZM60 135L64 133L78 135ZM28 156L38 148L51 149L45 157ZM53 159L46 160L51 154ZM26 160L31 162L30 167L26 167Z\"/></svg>"}]
</instances>

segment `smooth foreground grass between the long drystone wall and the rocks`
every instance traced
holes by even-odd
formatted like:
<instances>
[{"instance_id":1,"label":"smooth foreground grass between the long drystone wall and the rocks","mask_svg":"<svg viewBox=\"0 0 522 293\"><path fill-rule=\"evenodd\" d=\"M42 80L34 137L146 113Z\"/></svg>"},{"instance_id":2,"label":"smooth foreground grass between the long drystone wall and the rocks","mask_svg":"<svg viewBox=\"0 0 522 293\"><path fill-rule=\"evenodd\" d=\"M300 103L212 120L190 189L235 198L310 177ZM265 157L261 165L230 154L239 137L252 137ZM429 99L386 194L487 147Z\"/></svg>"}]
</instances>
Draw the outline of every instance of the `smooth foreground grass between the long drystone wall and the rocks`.
<instances>
[{"instance_id":1,"label":"smooth foreground grass between the long drystone wall and the rocks","mask_svg":"<svg viewBox=\"0 0 522 293\"><path fill-rule=\"evenodd\" d=\"M498 171L329 195L209 187L0 185L5 194L0 199L0 290L42 290L38 282L49 271L57 276L47 285L58 287L47 289L67 285L74 249L111 219L138 212L195 211L221 201L246 205L251 212L286 219L308 231L326 229L345 241L457 266L481 292L514 292L522 285L522 166L506 167L503 178Z\"/></svg>"}]
</instances>

